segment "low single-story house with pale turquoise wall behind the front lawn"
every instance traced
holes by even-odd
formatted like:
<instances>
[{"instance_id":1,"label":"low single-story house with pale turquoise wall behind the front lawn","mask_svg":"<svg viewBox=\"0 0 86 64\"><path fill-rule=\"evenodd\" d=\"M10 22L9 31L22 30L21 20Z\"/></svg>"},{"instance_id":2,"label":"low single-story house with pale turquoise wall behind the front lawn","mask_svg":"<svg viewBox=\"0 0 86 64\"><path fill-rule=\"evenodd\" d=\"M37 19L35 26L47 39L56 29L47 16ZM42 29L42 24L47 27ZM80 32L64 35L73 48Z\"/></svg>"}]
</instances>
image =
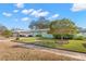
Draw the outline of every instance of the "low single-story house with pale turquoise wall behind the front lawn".
<instances>
[{"instance_id":1,"label":"low single-story house with pale turquoise wall behind the front lawn","mask_svg":"<svg viewBox=\"0 0 86 64\"><path fill-rule=\"evenodd\" d=\"M15 29L12 30L13 33L13 37L17 37L17 35L20 37L32 37L32 36L36 36L36 35L41 35L42 37L46 38L52 38L52 35L48 34L49 29L30 29L30 30L23 30L23 29Z\"/></svg>"}]
</instances>

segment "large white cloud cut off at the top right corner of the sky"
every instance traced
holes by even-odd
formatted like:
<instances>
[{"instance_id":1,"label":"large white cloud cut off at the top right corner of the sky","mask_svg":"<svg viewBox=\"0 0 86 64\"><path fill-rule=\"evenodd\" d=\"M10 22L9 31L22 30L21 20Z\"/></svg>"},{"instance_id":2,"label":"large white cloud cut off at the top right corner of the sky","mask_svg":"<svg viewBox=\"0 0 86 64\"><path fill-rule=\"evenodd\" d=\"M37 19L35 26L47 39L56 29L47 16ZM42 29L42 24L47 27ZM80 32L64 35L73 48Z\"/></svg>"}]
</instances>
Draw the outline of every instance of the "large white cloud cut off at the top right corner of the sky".
<instances>
[{"instance_id":1,"label":"large white cloud cut off at the top right corner of the sky","mask_svg":"<svg viewBox=\"0 0 86 64\"><path fill-rule=\"evenodd\" d=\"M74 3L73 7L71 8L71 11L77 12L77 11L83 11L86 10L86 3Z\"/></svg>"}]
</instances>

